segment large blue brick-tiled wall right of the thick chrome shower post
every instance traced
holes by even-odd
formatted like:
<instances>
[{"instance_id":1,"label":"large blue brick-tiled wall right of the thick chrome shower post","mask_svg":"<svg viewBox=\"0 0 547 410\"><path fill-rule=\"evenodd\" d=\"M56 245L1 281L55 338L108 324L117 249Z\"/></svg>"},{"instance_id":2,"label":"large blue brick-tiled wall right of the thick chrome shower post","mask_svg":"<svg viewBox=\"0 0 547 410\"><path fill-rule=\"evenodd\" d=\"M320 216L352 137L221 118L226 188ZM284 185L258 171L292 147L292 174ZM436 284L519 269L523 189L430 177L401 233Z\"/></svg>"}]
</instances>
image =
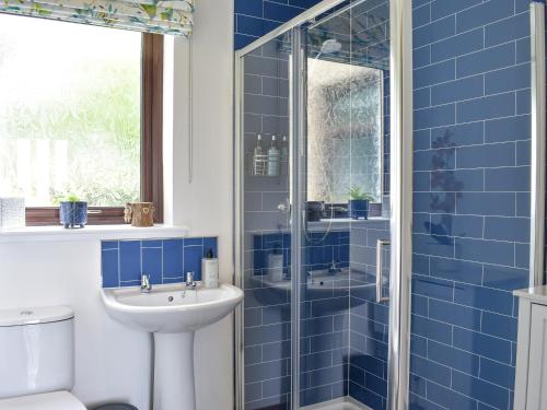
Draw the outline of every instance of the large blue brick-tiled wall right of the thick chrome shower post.
<instances>
[{"instance_id":1,"label":"large blue brick-tiled wall right of the thick chrome shower post","mask_svg":"<svg viewBox=\"0 0 547 410\"><path fill-rule=\"evenodd\" d=\"M529 238L527 0L415 0L412 409L510 409Z\"/></svg>"}]
</instances>

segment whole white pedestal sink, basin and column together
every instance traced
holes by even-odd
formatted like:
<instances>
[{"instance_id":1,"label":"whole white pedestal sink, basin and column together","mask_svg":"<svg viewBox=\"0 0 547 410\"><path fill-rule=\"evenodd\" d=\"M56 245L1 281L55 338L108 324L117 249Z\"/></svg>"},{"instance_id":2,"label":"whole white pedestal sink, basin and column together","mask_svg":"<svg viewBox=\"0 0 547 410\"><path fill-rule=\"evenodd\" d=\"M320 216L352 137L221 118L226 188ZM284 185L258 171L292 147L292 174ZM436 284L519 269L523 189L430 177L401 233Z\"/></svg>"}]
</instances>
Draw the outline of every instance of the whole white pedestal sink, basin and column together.
<instances>
[{"instance_id":1,"label":"whole white pedestal sink, basin and column together","mask_svg":"<svg viewBox=\"0 0 547 410\"><path fill-rule=\"evenodd\" d=\"M186 290L184 284L104 289L108 315L154 336L154 410L194 410L194 333L228 316L243 300L231 284Z\"/></svg>"}]
</instances>

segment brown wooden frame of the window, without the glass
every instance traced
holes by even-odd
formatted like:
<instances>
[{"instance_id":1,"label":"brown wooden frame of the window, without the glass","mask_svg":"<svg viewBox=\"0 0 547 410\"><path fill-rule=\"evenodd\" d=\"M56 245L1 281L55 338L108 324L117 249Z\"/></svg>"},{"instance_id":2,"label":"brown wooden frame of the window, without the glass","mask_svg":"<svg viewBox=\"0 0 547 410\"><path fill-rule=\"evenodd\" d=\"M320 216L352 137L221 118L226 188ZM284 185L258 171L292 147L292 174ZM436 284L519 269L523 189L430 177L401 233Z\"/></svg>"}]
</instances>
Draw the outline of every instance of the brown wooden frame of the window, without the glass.
<instances>
[{"instance_id":1,"label":"brown wooden frame of the window, without the glass","mask_svg":"<svg viewBox=\"0 0 547 410\"><path fill-rule=\"evenodd\" d=\"M142 33L140 199L163 222L163 36ZM125 204L89 207L88 225L123 224ZM59 207L27 207L27 226L58 225Z\"/></svg>"}]
</instances>

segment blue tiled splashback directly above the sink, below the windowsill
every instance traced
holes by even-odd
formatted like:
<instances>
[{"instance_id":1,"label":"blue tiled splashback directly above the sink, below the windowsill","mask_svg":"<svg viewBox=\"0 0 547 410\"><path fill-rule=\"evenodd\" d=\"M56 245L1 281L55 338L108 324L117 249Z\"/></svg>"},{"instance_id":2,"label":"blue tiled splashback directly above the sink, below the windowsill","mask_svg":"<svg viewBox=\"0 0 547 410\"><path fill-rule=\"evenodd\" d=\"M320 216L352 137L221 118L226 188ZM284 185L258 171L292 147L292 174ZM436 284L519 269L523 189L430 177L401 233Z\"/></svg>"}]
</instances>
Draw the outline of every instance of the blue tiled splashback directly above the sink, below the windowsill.
<instances>
[{"instance_id":1,"label":"blue tiled splashback directly above the sink, below the windowsill","mask_svg":"<svg viewBox=\"0 0 547 410\"><path fill-rule=\"evenodd\" d=\"M218 255L216 237L104 241L103 288L139 285L142 273L152 284L183 282L190 271L201 280L201 258L209 249Z\"/></svg>"}]
</instances>

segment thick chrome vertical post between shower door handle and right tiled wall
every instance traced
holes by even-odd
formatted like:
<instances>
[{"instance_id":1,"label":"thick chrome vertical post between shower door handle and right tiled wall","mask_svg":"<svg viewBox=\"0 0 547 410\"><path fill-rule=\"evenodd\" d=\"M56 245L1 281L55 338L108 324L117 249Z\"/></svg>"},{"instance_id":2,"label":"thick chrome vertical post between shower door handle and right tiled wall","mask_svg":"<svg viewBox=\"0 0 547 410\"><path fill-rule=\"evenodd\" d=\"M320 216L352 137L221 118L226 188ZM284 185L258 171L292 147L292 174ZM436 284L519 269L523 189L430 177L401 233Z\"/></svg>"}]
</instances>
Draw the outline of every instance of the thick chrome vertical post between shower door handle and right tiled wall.
<instances>
[{"instance_id":1,"label":"thick chrome vertical post between shower door handle and right tiled wall","mask_svg":"<svg viewBox=\"0 0 547 410\"><path fill-rule=\"evenodd\" d=\"M412 263L412 7L389 1L391 278L387 408L408 409Z\"/></svg>"}]
</instances>

